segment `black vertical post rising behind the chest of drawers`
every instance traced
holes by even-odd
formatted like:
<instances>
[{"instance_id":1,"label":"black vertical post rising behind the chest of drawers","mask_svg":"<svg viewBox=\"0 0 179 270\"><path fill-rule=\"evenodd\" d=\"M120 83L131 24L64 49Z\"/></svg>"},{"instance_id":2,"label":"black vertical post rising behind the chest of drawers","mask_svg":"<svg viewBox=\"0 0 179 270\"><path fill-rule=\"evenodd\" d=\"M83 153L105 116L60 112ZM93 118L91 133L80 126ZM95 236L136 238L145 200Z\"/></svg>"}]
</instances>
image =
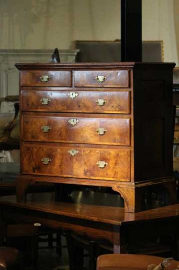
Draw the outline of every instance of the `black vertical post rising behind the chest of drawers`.
<instances>
[{"instance_id":1,"label":"black vertical post rising behind the chest of drawers","mask_svg":"<svg viewBox=\"0 0 179 270\"><path fill-rule=\"evenodd\" d=\"M121 0L121 61L141 60L141 0Z\"/></svg>"}]
</instances>

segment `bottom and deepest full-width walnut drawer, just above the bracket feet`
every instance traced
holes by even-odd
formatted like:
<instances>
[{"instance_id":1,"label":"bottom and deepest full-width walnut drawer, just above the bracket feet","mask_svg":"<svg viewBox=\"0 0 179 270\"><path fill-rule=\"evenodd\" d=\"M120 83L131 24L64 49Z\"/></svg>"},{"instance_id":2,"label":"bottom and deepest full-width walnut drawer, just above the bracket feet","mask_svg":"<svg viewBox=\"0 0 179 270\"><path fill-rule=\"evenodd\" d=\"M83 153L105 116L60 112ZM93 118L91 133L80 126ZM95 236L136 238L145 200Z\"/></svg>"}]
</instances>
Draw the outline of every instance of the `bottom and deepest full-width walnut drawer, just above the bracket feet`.
<instances>
[{"instance_id":1,"label":"bottom and deepest full-width walnut drawer, just above the bracket feet","mask_svg":"<svg viewBox=\"0 0 179 270\"><path fill-rule=\"evenodd\" d=\"M129 149L22 143L21 161L22 174L130 181Z\"/></svg>"}]
</instances>

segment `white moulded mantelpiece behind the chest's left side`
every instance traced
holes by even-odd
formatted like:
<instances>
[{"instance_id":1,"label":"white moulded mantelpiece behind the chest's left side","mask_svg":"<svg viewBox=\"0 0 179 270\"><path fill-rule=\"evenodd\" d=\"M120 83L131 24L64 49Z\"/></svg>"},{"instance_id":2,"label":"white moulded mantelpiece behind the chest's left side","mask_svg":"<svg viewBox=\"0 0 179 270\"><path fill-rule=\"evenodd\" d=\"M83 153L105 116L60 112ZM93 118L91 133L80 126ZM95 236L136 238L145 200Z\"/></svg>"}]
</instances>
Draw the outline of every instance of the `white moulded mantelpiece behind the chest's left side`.
<instances>
[{"instance_id":1,"label":"white moulded mantelpiece behind the chest's left side","mask_svg":"<svg viewBox=\"0 0 179 270\"><path fill-rule=\"evenodd\" d=\"M74 63L79 50L59 50L60 62ZM18 95L15 63L50 62L53 50L0 50L0 97Z\"/></svg>"}]
</instances>

